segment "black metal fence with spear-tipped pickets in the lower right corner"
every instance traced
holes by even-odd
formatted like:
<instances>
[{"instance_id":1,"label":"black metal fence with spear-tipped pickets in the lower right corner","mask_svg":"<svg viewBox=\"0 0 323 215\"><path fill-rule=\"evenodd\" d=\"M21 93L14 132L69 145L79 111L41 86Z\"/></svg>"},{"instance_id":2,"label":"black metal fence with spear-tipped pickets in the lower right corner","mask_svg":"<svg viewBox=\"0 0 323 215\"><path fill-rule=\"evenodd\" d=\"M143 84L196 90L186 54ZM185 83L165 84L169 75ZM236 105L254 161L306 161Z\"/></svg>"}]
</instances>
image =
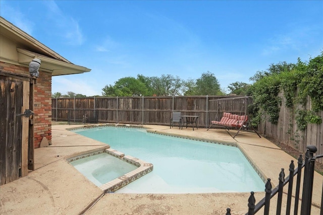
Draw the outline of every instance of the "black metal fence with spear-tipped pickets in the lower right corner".
<instances>
[{"instance_id":1,"label":"black metal fence with spear-tipped pickets in the lower right corner","mask_svg":"<svg viewBox=\"0 0 323 215\"><path fill-rule=\"evenodd\" d=\"M294 202L294 211L292 214L297 215L299 209L299 201L301 201L300 214L301 215L310 215L311 214L311 206L312 206L312 194L313 194L313 179L314 179L314 165L315 160L318 158L322 158L323 155L314 156L314 153L317 152L317 148L315 146L307 146L305 153L305 161L303 162L302 155L298 158L298 167L296 169L294 165L294 161L291 161L289 166L289 176L285 179L284 169L282 168L279 174L279 185L272 189L271 179L268 178L265 184L265 197L261 199L257 204L255 204L256 200L254 197L254 192L251 192L251 195L248 199L248 212L246 215L252 215L258 212L264 206L263 214L270 214L270 204L271 199L278 194L277 197L277 207L276 214L282 214L282 199L283 199L283 187L288 184L288 192L287 192L287 202L286 202L286 214L291 214L291 205L292 205L292 196L295 196ZM300 199L300 185L301 185L301 174L302 168L304 167L304 177L303 177L303 189L302 189L302 198ZM297 175L296 186L295 186L295 194L293 194L293 181L294 176ZM321 208L320 215L323 215L323 185L322 185L322 194L321 194ZM271 213L273 214L273 213ZM226 215L231 215L231 209L227 208Z\"/></svg>"}]
</instances>

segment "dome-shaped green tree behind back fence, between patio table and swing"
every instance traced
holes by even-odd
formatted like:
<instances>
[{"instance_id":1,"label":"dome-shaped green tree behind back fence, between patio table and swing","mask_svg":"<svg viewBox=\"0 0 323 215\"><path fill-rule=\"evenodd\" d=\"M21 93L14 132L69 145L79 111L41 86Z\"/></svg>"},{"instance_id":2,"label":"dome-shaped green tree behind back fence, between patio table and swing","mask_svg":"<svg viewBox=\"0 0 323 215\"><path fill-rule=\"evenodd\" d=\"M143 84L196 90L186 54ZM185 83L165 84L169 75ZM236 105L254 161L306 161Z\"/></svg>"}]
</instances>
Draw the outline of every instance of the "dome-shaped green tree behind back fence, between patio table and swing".
<instances>
[{"instance_id":1,"label":"dome-shaped green tree behind back fence, between patio table and swing","mask_svg":"<svg viewBox=\"0 0 323 215\"><path fill-rule=\"evenodd\" d=\"M194 89L195 95L223 95L218 79L214 74L207 71L203 73L201 78L196 80L196 87Z\"/></svg>"}]
</instances>

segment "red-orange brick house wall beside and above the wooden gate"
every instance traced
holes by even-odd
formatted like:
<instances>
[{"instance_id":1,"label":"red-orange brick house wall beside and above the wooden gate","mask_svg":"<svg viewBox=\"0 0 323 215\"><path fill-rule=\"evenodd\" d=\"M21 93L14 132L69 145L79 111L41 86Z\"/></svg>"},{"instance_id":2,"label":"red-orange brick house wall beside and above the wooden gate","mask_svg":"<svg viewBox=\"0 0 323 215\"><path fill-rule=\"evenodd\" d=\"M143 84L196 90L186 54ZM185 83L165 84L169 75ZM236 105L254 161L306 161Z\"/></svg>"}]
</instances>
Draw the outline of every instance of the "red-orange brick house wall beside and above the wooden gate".
<instances>
[{"instance_id":1,"label":"red-orange brick house wall beside and above the wooden gate","mask_svg":"<svg viewBox=\"0 0 323 215\"><path fill-rule=\"evenodd\" d=\"M25 66L0 62L4 72L29 75ZM51 142L51 73L39 70L37 84L34 85L34 147L39 148L43 137Z\"/></svg>"}]
</instances>

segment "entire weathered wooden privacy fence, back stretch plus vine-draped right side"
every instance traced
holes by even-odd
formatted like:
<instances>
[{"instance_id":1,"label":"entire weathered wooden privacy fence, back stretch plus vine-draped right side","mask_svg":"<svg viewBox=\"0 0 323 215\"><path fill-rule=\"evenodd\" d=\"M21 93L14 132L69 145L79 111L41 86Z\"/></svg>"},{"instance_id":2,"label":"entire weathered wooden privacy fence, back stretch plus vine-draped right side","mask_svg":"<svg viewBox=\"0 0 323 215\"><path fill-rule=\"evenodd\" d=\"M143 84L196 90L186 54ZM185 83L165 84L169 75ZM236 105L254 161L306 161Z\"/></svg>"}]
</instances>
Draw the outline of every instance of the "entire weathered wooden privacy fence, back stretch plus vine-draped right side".
<instances>
[{"instance_id":1,"label":"entire weathered wooden privacy fence, back stretch plus vine-draped right side","mask_svg":"<svg viewBox=\"0 0 323 215\"><path fill-rule=\"evenodd\" d=\"M278 124L272 124L264 116L258 132L301 152L309 144L315 145L317 153L323 154L323 123L308 124L300 131L296 114L285 106L281 93L279 96L283 99ZM211 120L220 121L223 112L244 115L247 105L252 103L251 97L237 96L52 98L51 101L52 120L56 121L169 125L172 112L176 111L198 115L197 126L205 128ZM310 110L310 101L307 104L305 108ZM323 111L319 115L323 118ZM323 159L317 162L323 163Z\"/></svg>"}]
</instances>

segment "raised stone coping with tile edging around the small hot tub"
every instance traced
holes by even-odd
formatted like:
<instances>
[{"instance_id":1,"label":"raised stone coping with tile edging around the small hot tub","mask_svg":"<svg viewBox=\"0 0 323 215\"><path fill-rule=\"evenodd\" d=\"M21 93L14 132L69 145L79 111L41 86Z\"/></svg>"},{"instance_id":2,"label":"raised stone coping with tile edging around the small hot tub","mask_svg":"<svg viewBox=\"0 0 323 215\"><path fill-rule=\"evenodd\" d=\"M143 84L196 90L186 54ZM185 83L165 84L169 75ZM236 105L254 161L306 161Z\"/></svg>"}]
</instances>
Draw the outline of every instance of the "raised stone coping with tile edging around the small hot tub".
<instances>
[{"instance_id":1,"label":"raised stone coping with tile edging around the small hot tub","mask_svg":"<svg viewBox=\"0 0 323 215\"><path fill-rule=\"evenodd\" d=\"M88 158L90 156L94 156L94 155L98 155L98 154L102 154L102 153L106 153L108 155L114 156L118 159L124 160L125 162L132 164L136 167L138 167L137 169L126 173L123 176L120 176L112 181L109 181L107 183L102 184L101 186L99 186L99 188L104 191L105 193L110 193L110 192L115 192L116 190L128 185L129 183L141 178L142 176L146 175L147 173L150 173L153 170L153 165L150 163L147 163L145 161L142 161L138 158L126 155L122 152L119 152L117 150L111 149L110 146L108 145L106 147L106 149L99 149L99 150L90 150L90 151L86 151L83 153L78 153L78 155L72 155L69 156L68 158L66 158L67 162L72 162L72 161L76 161L79 159L83 159L83 158Z\"/></svg>"}]
</instances>

